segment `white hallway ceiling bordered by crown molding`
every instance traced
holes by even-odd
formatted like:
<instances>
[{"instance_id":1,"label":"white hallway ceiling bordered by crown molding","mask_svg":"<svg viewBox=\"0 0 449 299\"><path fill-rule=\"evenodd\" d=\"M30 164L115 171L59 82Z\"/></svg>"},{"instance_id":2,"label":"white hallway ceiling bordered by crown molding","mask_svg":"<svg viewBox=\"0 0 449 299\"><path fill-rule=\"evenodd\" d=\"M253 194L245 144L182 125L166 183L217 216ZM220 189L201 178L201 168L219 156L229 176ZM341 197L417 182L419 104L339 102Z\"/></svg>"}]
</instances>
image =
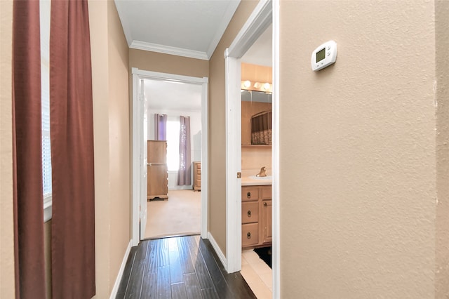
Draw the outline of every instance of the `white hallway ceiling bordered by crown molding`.
<instances>
[{"instance_id":1,"label":"white hallway ceiling bordered by crown molding","mask_svg":"<svg viewBox=\"0 0 449 299\"><path fill-rule=\"evenodd\" d=\"M130 48L209 60L240 0L115 0Z\"/></svg>"}]
</instances>

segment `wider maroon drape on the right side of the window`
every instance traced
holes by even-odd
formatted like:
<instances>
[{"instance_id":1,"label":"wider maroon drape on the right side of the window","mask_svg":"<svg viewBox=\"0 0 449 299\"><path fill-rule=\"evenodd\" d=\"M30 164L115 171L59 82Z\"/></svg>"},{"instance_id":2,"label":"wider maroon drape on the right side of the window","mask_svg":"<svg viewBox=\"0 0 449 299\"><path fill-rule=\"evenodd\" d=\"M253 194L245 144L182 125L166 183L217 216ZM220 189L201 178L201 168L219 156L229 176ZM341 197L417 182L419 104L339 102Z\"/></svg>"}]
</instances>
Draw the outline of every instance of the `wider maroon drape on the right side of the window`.
<instances>
[{"instance_id":1,"label":"wider maroon drape on the right side of the window","mask_svg":"<svg viewBox=\"0 0 449 299\"><path fill-rule=\"evenodd\" d=\"M95 295L93 106L88 1L52 1L53 298Z\"/></svg>"}]
</instances>

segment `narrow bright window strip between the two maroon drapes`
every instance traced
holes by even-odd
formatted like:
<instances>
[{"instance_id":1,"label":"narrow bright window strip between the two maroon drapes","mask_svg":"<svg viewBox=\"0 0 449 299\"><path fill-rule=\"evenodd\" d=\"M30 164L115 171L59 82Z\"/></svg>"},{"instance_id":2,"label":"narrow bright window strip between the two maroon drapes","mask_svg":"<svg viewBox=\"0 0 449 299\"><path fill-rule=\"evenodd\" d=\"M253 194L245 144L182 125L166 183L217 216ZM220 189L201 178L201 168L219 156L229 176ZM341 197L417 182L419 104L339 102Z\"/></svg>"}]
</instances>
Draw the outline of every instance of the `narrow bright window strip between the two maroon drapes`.
<instances>
[{"instance_id":1,"label":"narrow bright window strip between the two maroon drapes","mask_svg":"<svg viewBox=\"0 0 449 299\"><path fill-rule=\"evenodd\" d=\"M51 1L39 1L41 23L41 115L43 221L51 219L51 148L50 148L50 8Z\"/></svg>"}]
</instances>

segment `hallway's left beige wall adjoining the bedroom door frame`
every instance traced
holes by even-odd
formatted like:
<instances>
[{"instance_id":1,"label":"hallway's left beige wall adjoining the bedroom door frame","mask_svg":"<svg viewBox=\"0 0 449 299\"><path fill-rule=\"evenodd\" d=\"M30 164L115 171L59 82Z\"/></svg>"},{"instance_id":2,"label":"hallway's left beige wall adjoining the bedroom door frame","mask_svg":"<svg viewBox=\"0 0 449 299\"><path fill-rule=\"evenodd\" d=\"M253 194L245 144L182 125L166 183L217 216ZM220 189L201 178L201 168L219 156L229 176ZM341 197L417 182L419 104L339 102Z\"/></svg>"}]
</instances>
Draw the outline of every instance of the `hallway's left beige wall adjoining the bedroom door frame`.
<instances>
[{"instance_id":1,"label":"hallway's left beige wall adjoining the bedroom door frame","mask_svg":"<svg viewBox=\"0 0 449 299\"><path fill-rule=\"evenodd\" d=\"M109 47L109 180L111 190L111 269L114 284L131 239L129 56L114 1L108 1ZM109 286L109 291L112 286Z\"/></svg>"}]
</instances>

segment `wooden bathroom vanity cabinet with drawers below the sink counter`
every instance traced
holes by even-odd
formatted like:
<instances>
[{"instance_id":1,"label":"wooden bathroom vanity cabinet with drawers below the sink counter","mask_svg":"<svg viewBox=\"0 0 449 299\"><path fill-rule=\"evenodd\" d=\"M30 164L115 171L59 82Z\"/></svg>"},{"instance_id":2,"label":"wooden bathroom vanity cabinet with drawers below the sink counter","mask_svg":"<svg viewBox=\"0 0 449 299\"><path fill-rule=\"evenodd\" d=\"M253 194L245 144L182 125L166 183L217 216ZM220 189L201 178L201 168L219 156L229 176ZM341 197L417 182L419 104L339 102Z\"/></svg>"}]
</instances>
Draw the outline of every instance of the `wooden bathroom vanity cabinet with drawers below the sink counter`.
<instances>
[{"instance_id":1,"label":"wooden bathroom vanity cabinet with drawers below the sink counter","mask_svg":"<svg viewBox=\"0 0 449 299\"><path fill-rule=\"evenodd\" d=\"M272 186L241 187L241 246L256 248L272 243Z\"/></svg>"}]
</instances>

